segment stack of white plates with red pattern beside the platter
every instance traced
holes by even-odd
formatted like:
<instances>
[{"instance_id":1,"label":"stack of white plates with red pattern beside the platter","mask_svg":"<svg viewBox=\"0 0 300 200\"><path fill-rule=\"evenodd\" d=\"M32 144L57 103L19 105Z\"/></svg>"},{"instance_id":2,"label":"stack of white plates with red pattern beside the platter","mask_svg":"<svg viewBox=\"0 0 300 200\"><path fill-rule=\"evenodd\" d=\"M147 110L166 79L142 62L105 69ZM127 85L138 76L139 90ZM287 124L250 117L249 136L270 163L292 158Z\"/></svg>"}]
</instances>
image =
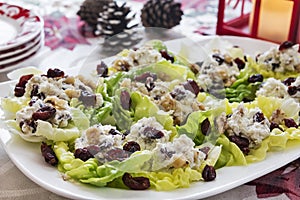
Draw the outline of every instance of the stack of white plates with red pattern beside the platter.
<instances>
[{"instance_id":1,"label":"stack of white plates with red pattern beside the platter","mask_svg":"<svg viewBox=\"0 0 300 200\"><path fill-rule=\"evenodd\" d=\"M0 3L0 72L32 58L44 45L44 22L31 10Z\"/></svg>"}]
</instances>

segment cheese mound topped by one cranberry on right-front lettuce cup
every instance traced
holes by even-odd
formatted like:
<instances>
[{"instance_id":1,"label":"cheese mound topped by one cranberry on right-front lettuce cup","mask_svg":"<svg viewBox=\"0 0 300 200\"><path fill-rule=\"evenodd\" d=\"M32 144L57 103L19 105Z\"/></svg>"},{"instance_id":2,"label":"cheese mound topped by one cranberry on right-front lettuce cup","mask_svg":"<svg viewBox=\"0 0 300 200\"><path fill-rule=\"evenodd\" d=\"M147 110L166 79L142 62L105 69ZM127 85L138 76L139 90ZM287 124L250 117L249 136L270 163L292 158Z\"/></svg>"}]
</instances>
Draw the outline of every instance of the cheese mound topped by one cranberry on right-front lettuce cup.
<instances>
[{"instance_id":1,"label":"cheese mound topped by one cranberry on right-front lettuce cup","mask_svg":"<svg viewBox=\"0 0 300 200\"><path fill-rule=\"evenodd\" d=\"M250 142L250 148L259 146L262 140L270 135L270 122L266 117L261 122L255 121L254 116L259 112L262 111L257 107L248 110L243 103L240 103L227 119L227 134L247 138Z\"/></svg>"}]
</instances>

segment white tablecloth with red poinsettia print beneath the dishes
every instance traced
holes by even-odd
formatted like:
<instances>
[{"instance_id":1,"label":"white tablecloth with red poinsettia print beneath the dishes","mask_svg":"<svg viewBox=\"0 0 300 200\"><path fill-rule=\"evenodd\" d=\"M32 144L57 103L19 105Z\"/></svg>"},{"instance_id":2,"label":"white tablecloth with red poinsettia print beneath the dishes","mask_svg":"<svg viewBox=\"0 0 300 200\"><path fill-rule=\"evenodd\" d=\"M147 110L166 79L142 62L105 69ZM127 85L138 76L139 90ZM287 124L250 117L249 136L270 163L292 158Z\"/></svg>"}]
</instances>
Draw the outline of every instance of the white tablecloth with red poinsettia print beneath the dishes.
<instances>
[{"instance_id":1,"label":"white tablecloth with red poinsettia print beneath the dishes","mask_svg":"<svg viewBox=\"0 0 300 200\"><path fill-rule=\"evenodd\" d=\"M99 38L87 38L82 36L78 31L80 21L76 17L76 11L79 9L82 0L4 0L4 2L18 4L33 9L36 12L39 12L45 20L45 47L43 47L32 59L22 63L22 66L37 66L41 69L61 66L65 69L73 67L73 69L76 70L76 68L80 67L82 64L80 61L89 56L93 49L99 45ZM133 1L130 1L130 3L132 2ZM142 5L141 2L143 1L135 0L134 5ZM214 34L218 1L182 0L182 5L185 11L185 17L183 18L181 25L173 28L165 40L179 37L189 37L191 39L201 40L205 37L203 35ZM59 22L65 29L69 30L69 32L65 29L54 31L55 26L50 23L53 19L56 20L57 23ZM70 31L72 34L70 34ZM71 38L71 40L64 40L64 38L67 37ZM72 42L68 43L67 41ZM57 58L57 55L64 55L65 59L55 59ZM0 81L5 80L7 80L6 73L0 74ZM299 162L297 163L296 170L299 171ZM270 176L272 176L272 173ZM272 186L271 183L270 185ZM294 194L294 196L290 195L290 193L292 193L292 191L289 191L287 188L284 188L278 193L274 191L268 193L268 191L264 191L263 187L259 187L254 182L206 199L300 199L299 193L296 195ZM66 198L51 193L29 180L12 163L3 147L0 145L0 199L63 200Z\"/></svg>"}]
</instances>

